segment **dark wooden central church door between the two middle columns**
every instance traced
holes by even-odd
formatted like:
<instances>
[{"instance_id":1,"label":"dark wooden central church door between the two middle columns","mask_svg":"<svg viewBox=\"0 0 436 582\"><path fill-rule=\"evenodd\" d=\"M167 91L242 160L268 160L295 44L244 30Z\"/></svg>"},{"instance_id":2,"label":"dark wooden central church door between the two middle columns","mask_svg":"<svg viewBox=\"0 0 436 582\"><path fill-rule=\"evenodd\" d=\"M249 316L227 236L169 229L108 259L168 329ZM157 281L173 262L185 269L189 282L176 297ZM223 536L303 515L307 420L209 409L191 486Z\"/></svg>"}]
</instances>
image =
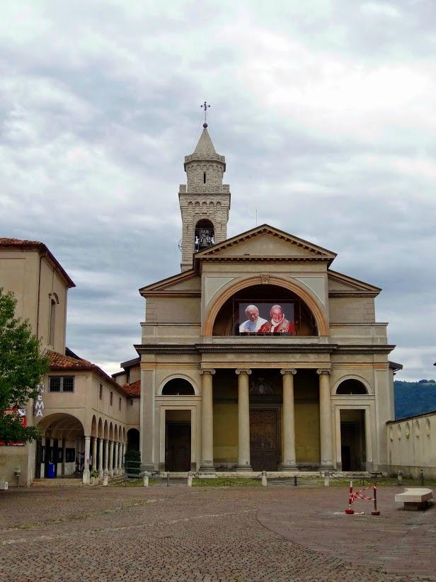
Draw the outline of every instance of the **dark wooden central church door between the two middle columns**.
<instances>
[{"instance_id":1,"label":"dark wooden central church door between the two middle columns","mask_svg":"<svg viewBox=\"0 0 436 582\"><path fill-rule=\"evenodd\" d=\"M253 471L277 471L277 410L250 410L250 460Z\"/></svg>"}]
</instances>

